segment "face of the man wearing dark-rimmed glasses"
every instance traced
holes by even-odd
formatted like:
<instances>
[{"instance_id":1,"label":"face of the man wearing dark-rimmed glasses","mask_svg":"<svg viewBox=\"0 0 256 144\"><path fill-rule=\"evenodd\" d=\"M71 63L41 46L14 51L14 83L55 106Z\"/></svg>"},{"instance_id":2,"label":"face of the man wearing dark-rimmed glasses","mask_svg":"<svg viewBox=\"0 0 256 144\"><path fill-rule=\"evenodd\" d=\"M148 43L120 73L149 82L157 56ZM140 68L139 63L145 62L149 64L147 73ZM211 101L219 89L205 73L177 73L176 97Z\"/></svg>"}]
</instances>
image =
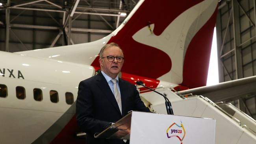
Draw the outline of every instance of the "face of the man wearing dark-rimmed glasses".
<instances>
[{"instance_id":1,"label":"face of the man wearing dark-rimmed glasses","mask_svg":"<svg viewBox=\"0 0 256 144\"><path fill-rule=\"evenodd\" d=\"M117 46L110 46L106 48L103 52L103 59L99 59L100 67L108 76L111 78L117 77L118 73L121 71L122 65L124 63L124 60L119 63L117 62L117 59L115 58L114 61L109 62L107 56L114 56L114 57L124 57L121 50Z\"/></svg>"}]
</instances>

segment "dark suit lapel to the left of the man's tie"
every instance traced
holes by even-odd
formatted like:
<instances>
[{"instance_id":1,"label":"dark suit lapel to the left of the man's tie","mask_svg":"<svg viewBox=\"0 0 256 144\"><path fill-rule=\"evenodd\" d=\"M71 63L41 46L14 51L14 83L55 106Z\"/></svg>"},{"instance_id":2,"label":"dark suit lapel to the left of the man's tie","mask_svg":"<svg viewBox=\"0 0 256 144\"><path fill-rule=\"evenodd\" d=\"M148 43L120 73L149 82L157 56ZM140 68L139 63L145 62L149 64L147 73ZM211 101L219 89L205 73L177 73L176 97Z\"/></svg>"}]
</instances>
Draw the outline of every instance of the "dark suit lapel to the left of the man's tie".
<instances>
[{"instance_id":1,"label":"dark suit lapel to the left of the man's tie","mask_svg":"<svg viewBox=\"0 0 256 144\"><path fill-rule=\"evenodd\" d=\"M101 72L97 76L98 78L96 79L96 81L98 87L102 90L102 93L104 93L104 95L108 98L109 102L113 105L113 107L115 107L119 114L121 114L117 104L117 100L115 99L115 96L113 95L113 92L111 91L108 82L106 81Z\"/></svg>"}]
</instances>

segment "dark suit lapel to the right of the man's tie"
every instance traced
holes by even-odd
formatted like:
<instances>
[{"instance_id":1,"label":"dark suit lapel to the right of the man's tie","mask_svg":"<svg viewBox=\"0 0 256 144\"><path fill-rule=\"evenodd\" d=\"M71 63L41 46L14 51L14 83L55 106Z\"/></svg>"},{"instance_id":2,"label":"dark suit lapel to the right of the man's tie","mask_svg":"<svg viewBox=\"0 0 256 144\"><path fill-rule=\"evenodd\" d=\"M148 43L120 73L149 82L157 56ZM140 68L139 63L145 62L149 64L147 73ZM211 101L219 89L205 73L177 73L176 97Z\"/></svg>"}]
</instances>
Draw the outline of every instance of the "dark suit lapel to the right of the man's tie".
<instances>
[{"instance_id":1,"label":"dark suit lapel to the right of the man's tie","mask_svg":"<svg viewBox=\"0 0 256 144\"><path fill-rule=\"evenodd\" d=\"M127 98L127 89L124 85L124 81L119 78L119 88L121 92L121 100L122 100L122 114L126 114L126 98Z\"/></svg>"}]
</instances>

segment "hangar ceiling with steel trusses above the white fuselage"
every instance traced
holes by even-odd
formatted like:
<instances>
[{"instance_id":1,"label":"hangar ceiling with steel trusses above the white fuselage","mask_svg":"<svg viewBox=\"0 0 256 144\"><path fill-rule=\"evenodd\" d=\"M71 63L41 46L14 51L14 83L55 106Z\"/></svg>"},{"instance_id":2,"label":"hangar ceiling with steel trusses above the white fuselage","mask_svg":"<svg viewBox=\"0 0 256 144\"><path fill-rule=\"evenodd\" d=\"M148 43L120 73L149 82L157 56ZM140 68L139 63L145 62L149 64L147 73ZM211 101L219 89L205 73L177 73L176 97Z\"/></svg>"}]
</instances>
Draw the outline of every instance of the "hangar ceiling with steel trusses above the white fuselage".
<instances>
[{"instance_id":1,"label":"hangar ceiling with steel trusses above the white fuselage","mask_svg":"<svg viewBox=\"0 0 256 144\"><path fill-rule=\"evenodd\" d=\"M19 52L95 41L115 30L137 2L0 0L0 50Z\"/></svg>"}]
</instances>

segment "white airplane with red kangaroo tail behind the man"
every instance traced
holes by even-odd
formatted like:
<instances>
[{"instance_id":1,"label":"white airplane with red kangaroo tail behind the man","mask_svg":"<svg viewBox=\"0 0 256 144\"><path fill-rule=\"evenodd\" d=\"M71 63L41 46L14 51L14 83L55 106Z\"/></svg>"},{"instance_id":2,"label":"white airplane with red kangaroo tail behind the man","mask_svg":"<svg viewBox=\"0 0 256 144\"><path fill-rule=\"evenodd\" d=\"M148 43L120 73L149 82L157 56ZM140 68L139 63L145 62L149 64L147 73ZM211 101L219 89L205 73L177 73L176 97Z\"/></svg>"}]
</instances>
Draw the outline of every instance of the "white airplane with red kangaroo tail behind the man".
<instances>
[{"instance_id":1,"label":"white airplane with red kangaroo tail behind the man","mask_svg":"<svg viewBox=\"0 0 256 144\"><path fill-rule=\"evenodd\" d=\"M78 84L98 72L100 48L110 42L124 51L120 77L133 84L141 80L152 89L174 90L205 86L217 4L140 0L98 41L0 52L0 143L84 143L76 137L81 132L75 120Z\"/></svg>"}]
</instances>

